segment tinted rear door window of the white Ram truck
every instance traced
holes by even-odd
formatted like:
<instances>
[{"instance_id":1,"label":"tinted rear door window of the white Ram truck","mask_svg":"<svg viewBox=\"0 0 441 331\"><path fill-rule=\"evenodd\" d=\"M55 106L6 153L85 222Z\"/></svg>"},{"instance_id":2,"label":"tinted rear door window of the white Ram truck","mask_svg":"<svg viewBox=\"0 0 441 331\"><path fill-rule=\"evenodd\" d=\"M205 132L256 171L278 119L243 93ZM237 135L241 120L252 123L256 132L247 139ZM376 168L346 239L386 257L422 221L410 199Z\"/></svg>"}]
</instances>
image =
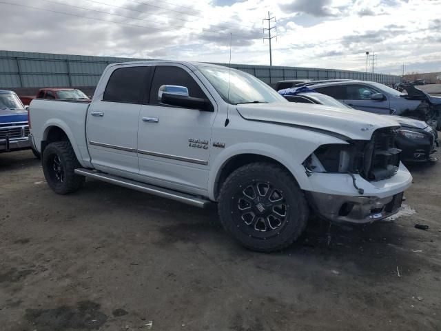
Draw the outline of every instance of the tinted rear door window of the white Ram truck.
<instances>
[{"instance_id":1,"label":"tinted rear door window of the white Ram truck","mask_svg":"<svg viewBox=\"0 0 441 331\"><path fill-rule=\"evenodd\" d=\"M116 69L107 82L103 101L141 103L146 74L150 70L150 67Z\"/></svg>"}]
</instances>

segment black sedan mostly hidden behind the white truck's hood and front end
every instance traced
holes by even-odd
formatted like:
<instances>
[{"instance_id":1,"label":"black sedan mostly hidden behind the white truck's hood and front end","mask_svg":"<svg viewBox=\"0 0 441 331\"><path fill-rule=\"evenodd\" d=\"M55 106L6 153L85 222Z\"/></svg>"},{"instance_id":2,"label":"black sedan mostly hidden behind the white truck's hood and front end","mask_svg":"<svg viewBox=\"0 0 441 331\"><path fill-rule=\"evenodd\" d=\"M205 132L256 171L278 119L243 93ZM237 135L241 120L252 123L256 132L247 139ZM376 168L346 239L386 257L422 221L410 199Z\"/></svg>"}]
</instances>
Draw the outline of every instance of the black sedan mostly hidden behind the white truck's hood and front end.
<instances>
[{"instance_id":1,"label":"black sedan mostly hidden behind the white truck's hood and front end","mask_svg":"<svg viewBox=\"0 0 441 331\"><path fill-rule=\"evenodd\" d=\"M345 103L329 97L329 95L318 93L307 87L287 88L278 91L291 102L317 103L331 107L351 108ZM400 123L400 129L397 130L396 146L400 148L400 158L403 162L424 162L435 161L431 154L436 151L438 145L438 132L433 130L424 121L410 119L394 115L382 115L393 118Z\"/></svg>"}]
</instances>

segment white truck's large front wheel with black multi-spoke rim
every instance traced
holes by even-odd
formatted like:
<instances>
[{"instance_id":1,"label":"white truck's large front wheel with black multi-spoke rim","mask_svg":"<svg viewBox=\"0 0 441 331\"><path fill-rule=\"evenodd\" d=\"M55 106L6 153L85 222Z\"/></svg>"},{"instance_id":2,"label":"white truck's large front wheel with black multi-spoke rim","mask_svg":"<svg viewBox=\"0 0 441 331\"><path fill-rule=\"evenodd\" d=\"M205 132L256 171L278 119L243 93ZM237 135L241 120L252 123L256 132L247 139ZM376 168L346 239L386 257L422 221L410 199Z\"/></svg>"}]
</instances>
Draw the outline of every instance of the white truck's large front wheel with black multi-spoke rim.
<instances>
[{"instance_id":1,"label":"white truck's large front wheel with black multi-spoke rim","mask_svg":"<svg viewBox=\"0 0 441 331\"><path fill-rule=\"evenodd\" d=\"M291 245L307 225L309 209L294 177L259 162L229 175L219 194L220 221L240 244L258 252Z\"/></svg>"}]
</instances>

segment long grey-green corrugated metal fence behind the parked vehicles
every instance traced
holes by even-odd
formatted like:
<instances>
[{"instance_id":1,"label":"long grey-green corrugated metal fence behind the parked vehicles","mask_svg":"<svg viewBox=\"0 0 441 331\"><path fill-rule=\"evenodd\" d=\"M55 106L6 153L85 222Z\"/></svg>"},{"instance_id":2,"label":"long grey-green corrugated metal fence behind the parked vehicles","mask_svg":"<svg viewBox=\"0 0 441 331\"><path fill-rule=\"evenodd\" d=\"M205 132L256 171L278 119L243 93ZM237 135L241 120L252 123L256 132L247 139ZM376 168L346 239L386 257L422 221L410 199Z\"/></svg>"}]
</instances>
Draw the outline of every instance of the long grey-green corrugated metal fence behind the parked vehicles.
<instances>
[{"instance_id":1,"label":"long grey-green corrugated metal fence behind the parked vehicles","mask_svg":"<svg viewBox=\"0 0 441 331\"><path fill-rule=\"evenodd\" d=\"M109 63L127 61L143 59L0 50L0 88L96 86ZM226 63L217 64L229 66ZM254 74L268 84L283 79L360 79L380 83L398 83L401 80L398 76L348 70L247 64L232 64L231 67Z\"/></svg>"}]
</instances>

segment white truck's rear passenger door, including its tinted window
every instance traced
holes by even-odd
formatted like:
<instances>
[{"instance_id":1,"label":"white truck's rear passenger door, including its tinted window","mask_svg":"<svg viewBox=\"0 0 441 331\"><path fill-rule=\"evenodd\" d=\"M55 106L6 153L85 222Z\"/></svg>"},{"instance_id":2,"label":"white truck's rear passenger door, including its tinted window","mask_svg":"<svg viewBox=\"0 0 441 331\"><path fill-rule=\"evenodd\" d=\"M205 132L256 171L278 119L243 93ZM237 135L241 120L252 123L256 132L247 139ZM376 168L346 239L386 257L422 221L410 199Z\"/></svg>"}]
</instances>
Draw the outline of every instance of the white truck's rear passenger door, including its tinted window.
<instances>
[{"instance_id":1,"label":"white truck's rear passenger door, including its tinted window","mask_svg":"<svg viewBox=\"0 0 441 331\"><path fill-rule=\"evenodd\" d=\"M87 137L92 164L98 170L138 174L138 121L149 66L117 68L110 74L101 100L88 110Z\"/></svg>"}]
</instances>

